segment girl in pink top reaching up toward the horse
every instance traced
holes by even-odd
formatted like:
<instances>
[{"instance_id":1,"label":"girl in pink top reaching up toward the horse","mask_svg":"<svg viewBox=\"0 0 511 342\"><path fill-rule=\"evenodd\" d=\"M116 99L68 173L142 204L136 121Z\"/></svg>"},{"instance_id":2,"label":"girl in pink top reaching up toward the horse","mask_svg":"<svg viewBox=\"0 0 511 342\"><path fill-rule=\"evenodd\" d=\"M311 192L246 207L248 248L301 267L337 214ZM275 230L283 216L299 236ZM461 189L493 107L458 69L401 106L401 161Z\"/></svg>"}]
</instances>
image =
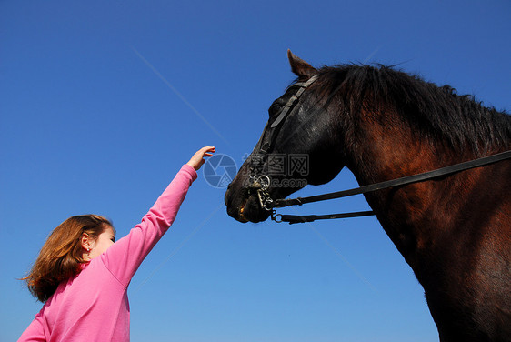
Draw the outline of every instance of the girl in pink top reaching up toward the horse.
<instances>
[{"instance_id":1,"label":"girl in pink top reaching up toward the horse","mask_svg":"<svg viewBox=\"0 0 511 342\"><path fill-rule=\"evenodd\" d=\"M57 226L25 280L45 305L19 341L129 341L127 287L174 222L196 171L215 147L195 153L130 233L115 242L111 222L72 216Z\"/></svg>"}]
</instances>

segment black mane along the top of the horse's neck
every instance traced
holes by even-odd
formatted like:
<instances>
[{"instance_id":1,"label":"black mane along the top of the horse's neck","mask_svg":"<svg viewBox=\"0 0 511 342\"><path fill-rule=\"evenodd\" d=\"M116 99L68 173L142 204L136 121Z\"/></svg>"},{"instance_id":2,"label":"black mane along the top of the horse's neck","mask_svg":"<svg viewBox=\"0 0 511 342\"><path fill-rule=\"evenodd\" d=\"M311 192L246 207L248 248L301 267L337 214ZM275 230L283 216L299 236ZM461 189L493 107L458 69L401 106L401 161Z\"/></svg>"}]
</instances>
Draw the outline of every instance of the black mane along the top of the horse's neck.
<instances>
[{"instance_id":1,"label":"black mane along the top of the horse's neck","mask_svg":"<svg viewBox=\"0 0 511 342\"><path fill-rule=\"evenodd\" d=\"M419 136L445 142L456 150L469 147L476 155L484 155L511 144L511 116L483 106L474 96L459 96L449 85L438 86L386 65L324 66L319 73L322 93L342 101L350 116L368 101L376 110L390 104Z\"/></svg>"}]
</instances>

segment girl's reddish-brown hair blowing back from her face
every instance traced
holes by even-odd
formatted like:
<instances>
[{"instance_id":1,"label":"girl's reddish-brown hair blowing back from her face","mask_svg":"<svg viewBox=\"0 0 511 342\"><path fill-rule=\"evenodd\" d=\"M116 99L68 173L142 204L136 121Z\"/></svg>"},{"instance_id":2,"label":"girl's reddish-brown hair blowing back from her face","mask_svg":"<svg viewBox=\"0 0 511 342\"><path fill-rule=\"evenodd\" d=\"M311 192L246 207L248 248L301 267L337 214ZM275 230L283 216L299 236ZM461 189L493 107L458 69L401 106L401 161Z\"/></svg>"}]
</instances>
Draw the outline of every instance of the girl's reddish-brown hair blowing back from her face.
<instances>
[{"instance_id":1,"label":"girl's reddish-brown hair blowing back from her face","mask_svg":"<svg viewBox=\"0 0 511 342\"><path fill-rule=\"evenodd\" d=\"M85 263L81 236L86 233L95 240L106 226L112 226L112 222L98 215L71 216L57 226L46 239L28 276L21 279L26 281L32 295L44 303L62 281L80 273L80 264Z\"/></svg>"}]
</instances>

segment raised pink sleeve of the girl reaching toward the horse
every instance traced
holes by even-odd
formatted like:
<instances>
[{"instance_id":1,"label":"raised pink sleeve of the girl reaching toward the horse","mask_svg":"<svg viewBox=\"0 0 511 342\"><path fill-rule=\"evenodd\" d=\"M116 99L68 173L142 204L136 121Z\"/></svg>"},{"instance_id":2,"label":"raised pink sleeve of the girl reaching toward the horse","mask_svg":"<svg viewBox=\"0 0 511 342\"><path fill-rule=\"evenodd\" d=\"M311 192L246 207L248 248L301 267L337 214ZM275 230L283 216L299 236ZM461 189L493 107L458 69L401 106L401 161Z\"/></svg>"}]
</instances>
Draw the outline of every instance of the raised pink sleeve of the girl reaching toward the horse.
<instances>
[{"instance_id":1,"label":"raised pink sleeve of the girl reaching toward the horse","mask_svg":"<svg viewBox=\"0 0 511 342\"><path fill-rule=\"evenodd\" d=\"M155 205L130 233L101 255L105 266L127 287L151 249L172 225L188 188L197 177L192 166L184 165L156 200Z\"/></svg>"}]
</instances>

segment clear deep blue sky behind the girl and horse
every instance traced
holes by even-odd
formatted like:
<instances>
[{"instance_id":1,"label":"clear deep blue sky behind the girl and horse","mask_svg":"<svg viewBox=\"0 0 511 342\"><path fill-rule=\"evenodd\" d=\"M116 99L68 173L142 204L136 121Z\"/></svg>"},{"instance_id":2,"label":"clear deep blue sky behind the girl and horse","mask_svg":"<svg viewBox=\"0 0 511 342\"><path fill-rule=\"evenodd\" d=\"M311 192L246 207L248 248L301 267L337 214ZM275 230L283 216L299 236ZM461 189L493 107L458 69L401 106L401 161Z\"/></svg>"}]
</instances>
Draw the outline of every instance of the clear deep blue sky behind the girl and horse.
<instances>
[{"instance_id":1,"label":"clear deep blue sky behind the girl and horse","mask_svg":"<svg viewBox=\"0 0 511 342\"><path fill-rule=\"evenodd\" d=\"M511 110L509 1L0 1L0 341L42 307L16 278L65 218L108 216L125 236L199 147L241 165L295 78L287 48ZM343 170L296 195L354 186ZM135 275L132 341L437 340L376 218L243 225L224 193L200 173Z\"/></svg>"}]
</instances>

